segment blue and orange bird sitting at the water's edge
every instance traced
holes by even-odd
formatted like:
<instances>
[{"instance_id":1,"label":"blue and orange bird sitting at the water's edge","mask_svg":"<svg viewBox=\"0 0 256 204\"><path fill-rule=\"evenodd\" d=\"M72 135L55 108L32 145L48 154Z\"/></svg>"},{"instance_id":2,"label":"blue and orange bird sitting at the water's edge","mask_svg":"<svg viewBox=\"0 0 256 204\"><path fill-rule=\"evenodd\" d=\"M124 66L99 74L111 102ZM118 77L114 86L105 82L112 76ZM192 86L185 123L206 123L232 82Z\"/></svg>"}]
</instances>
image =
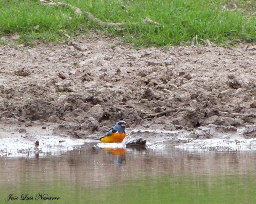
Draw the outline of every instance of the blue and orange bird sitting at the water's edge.
<instances>
[{"instance_id":1,"label":"blue and orange bird sitting at the water's edge","mask_svg":"<svg viewBox=\"0 0 256 204\"><path fill-rule=\"evenodd\" d=\"M121 143L126 135L125 133L126 122L118 121L116 125L111 128L103 137L92 138L99 140L102 143Z\"/></svg>"}]
</instances>

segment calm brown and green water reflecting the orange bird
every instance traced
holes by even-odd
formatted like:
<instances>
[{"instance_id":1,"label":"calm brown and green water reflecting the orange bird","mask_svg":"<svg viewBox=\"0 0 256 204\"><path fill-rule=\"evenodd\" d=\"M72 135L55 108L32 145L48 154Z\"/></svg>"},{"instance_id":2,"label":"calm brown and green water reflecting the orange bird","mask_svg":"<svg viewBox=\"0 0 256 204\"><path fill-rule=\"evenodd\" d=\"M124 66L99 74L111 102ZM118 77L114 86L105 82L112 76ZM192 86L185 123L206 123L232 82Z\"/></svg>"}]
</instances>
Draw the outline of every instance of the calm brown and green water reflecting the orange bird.
<instances>
[{"instance_id":1,"label":"calm brown and green water reflecting the orange bird","mask_svg":"<svg viewBox=\"0 0 256 204\"><path fill-rule=\"evenodd\" d=\"M0 203L242 204L256 203L255 186L255 151L86 144L58 156L0 157Z\"/></svg>"}]
</instances>

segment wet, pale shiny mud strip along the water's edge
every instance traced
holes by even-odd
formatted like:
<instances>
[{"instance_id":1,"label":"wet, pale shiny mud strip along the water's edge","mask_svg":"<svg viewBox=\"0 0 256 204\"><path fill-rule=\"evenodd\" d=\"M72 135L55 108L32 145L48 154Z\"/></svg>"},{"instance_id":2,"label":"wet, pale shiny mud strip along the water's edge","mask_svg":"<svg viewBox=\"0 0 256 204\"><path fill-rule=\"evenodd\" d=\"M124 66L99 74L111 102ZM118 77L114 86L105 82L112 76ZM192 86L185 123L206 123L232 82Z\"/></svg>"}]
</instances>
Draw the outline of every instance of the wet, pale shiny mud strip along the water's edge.
<instances>
[{"instance_id":1,"label":"wet, pale shiny mud strip along the water's edge","mask_svg":"<svg viewBox=\"0 0 256 204\"><path fill-rule=\"evenodd\" d=\"M153 149L157 152L166 149L178 148L185 151L250 151L256 150L256 138L245 139L246 128L235 130L226 129L224 126L209 125L198 127L192 131L185 130L156 130L156 129L135 129L127 128L126 138L123 143L98 143L91 137L103 133L92 133L87 139L72 137L72 134L64 134L64 131L56 131L64 124L25 121L16 119L1 119L0 127L0 157L26 157L61 155L67 151L93 146L94 149ZM73 124L74 125L74 124ZM68 124L73 127L72 124ZM252 126L254 127L254 126ZM251 126L249 127L251 128ZM225 131L226 129L226 131ZM72 128L71 128L72 130ZM146 145L129 145L131 141L140 138L146 140ZM38 143L36 143L38 141ZM134 143L133 143L134 144Z\"/></svg>"}]
</instances>

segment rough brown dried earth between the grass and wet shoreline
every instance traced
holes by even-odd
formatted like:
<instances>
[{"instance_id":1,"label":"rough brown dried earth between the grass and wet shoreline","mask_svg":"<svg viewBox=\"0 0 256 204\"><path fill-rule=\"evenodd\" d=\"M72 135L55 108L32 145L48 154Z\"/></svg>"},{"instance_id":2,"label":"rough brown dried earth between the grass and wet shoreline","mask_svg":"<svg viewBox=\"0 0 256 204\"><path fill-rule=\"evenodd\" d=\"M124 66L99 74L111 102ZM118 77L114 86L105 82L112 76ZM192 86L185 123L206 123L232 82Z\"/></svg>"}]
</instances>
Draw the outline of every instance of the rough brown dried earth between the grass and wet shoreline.
<instances>
[{"instance_id":1,"label":"rough brown dried earth between the grass and wet shoreline","mask_svg":"<svg viewBox=\"0 0 256 204\"><path fill-rule=\"evenodd\" d=\"M96 35L34 47L12 41L0 46L1 129L16 124L26 133L42 122L53 134L90 138L125 120L130 129L214 125L255 136L254 47L135 50Z\"/></svg>"}]
</instances>

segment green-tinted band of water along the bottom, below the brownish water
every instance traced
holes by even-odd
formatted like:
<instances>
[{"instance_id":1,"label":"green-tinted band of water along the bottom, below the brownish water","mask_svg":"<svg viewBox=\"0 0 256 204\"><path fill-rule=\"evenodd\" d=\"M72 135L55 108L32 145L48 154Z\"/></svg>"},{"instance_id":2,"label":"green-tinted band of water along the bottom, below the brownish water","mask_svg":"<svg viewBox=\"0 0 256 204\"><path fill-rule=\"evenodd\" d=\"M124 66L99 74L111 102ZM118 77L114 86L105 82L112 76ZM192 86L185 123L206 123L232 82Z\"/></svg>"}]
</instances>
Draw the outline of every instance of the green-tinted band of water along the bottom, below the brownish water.
<instances>
[{"instance_id":1,"label":"green-tinted band of water along the bottom, below the brownish water","mask_svg":"<svg viewBox=\"0 0 256 204\"><path fill-rule=\"evenodd\" d=\"M20 203L22 194L33 196L36 203L77 203L77 204L218 204L218 203L256 203L255 176L144 176L134 180L123 180L122 183L105 184L104 186L86 187L76 181L28 182L26 185L1 184L0 203L6 203L9 194L14 193ZM36 194L48 194L59 197L59 200L36 199ZM24 201L27 203L29 201Z\"/></svg>"}]
</instances>

